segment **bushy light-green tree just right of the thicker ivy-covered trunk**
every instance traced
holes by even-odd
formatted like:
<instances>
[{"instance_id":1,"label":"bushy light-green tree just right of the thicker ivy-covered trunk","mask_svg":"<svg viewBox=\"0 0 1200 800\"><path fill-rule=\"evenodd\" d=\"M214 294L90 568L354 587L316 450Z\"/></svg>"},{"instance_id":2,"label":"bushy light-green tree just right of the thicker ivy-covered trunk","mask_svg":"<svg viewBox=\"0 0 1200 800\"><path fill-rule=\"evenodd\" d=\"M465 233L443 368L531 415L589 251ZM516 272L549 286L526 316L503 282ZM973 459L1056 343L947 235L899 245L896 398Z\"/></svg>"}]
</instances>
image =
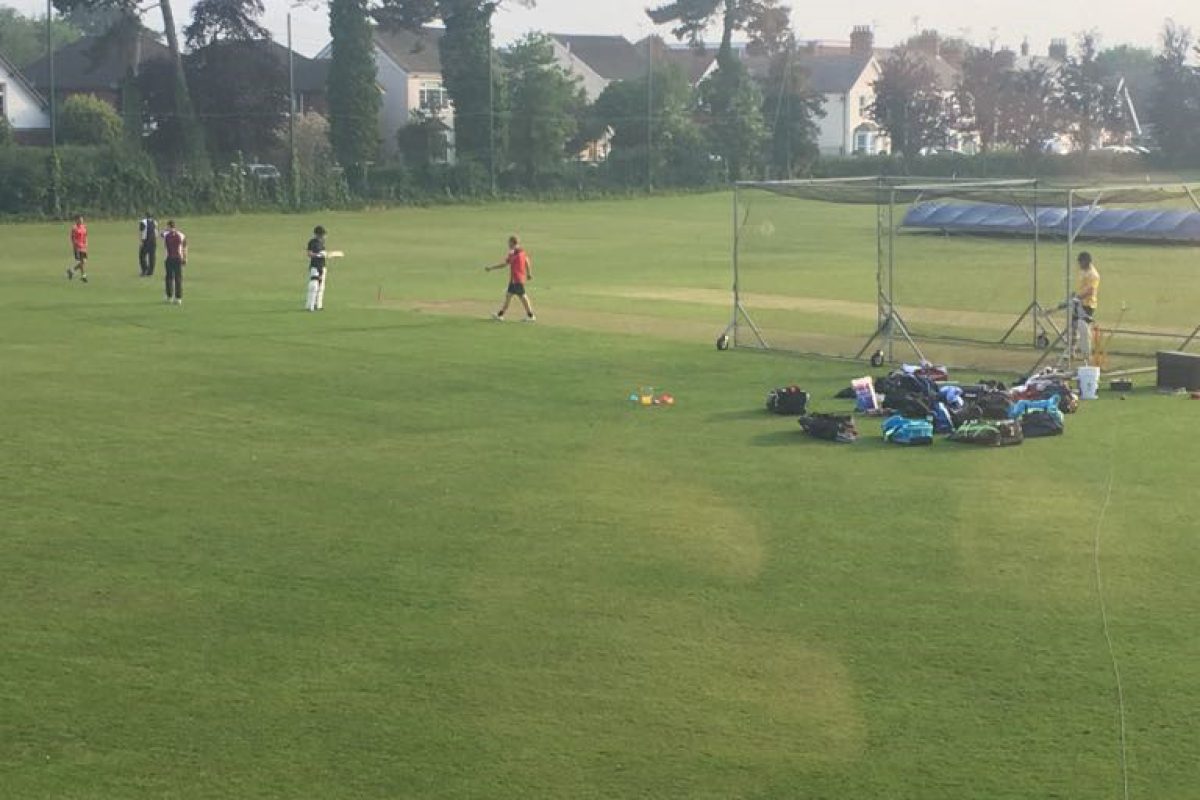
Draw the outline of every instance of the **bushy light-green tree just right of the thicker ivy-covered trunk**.
<instances>
[{"instance_id":1,"label":"bushy light-green tree just right of the thicker ivy-covered trunk","mask_svg":"<svg viewBox=\"0 0 1200 800\"><path fill-rule=\"evenodd\" d=\"M529 34L502 58L509 84L509 160L524 181L553 172L580 130L587 97L580 79L558 66L550 38Z\"/></svg>"}]
</instances>

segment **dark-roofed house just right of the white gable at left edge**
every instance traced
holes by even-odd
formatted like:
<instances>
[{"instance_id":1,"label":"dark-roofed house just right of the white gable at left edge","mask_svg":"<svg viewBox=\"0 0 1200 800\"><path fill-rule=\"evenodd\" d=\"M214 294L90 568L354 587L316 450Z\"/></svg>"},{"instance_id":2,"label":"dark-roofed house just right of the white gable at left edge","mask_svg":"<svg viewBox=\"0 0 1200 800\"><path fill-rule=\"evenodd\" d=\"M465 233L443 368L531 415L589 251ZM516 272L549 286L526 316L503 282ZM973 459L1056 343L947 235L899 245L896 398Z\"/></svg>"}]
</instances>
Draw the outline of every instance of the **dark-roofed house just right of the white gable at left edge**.
<instances>
[{"instance_id":1,"label":"dark-roofed house just right of the white gable at left edge","mask_svg":"<svg viewBox=\"0 0 1200 800\"><path fill-rule=\"evenodd\" d=\"M127 43L84 36L54 52L54 95L59 102L74 95L95 95L120 112L126 101L125 83L142 66L170 58L155 34L142 31ZM43 96L50 94L49 59L42 56L25 70L29 82Z\"/></svg>"}]
</instances>

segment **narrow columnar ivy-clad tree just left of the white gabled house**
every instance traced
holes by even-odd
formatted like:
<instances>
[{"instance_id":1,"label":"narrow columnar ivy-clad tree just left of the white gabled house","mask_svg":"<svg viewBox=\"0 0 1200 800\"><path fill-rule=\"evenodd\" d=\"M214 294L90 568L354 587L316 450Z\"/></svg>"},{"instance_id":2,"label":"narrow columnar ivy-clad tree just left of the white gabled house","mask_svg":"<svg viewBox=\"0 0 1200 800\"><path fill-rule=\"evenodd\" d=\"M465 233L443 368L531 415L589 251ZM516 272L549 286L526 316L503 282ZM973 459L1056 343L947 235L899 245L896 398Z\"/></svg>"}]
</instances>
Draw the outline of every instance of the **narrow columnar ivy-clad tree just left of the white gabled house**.
<instances>
[{"instance_id":1,"label":"narrow columnar ivy-clad tree just left of the white gabled house","mask_svg":"<svg viewBox=\"0 0 1200 800\"><path fill-rule=\"evenodd\" d=\"M329 64L330 143L352 184L366 179L367 162L379 149L379 90L366 0L331 0L329 30L334 55Z\"/></svg>"}]
</instances>

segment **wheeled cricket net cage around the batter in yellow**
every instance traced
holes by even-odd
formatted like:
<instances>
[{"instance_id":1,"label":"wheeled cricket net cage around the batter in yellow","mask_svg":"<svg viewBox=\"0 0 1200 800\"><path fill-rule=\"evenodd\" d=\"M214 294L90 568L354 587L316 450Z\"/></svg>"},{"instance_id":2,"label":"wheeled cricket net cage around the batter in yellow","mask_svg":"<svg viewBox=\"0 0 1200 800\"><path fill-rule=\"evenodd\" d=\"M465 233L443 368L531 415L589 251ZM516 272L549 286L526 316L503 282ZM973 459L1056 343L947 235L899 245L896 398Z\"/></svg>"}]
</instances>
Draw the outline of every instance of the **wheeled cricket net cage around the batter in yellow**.
<instances>
[{"instance_id":1,"label":"wheeled cricket net cage around the batter in yellow","mask_svg":"<svg viewBox=\"0 0 1200 800\"><path fill-rule=\"evenodd\" d=\"M1156 350L1200 347L1196 245L1187 185L742 182L726 336L739 348L1014 373L1080 359L1136 367ZM1068 302L1085 249L1103 277L1090 330Z\"/></svg>"}]
</instances>

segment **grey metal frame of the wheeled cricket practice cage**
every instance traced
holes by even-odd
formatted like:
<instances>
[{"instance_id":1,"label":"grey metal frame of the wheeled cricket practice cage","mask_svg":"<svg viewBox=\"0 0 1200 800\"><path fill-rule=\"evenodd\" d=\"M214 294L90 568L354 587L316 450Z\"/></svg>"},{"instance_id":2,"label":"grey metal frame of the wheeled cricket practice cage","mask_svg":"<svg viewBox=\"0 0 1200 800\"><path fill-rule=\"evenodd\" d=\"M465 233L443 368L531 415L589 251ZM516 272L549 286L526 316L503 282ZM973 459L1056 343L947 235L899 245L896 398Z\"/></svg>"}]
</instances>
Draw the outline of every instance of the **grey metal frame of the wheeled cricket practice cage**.
<instances>
[{"instance_id":1,"label":"grey metal frame of the wheeled cricket practice cage","mask_svg":"<svg viewBox=\"0 0 1200 800\"><path fill-rule=\"evenodd\" d=\"M1075 329L1076 319L1074 308L1068 302L1072 297L1072 276L1074 271L1074 246L1079 236L1087 234L1087 225L1094 218L1102 200L1112 200L1120 205L1144 205L1159 203L1168 199L1187 198L1200 212L1200 184L1166 182L1166 184L1108 184L1108 185L1050 185L1037 179L1004 179L1004 180L946 180L919 176L862 176L862 178L829 178L829 179L803 179L782 181L738 181L733 186L733 241L732 241L732 269L733 269L733 307L728 326L721 336L722 341L730 342L734 348L757 348L772 350L762 329L755 323L744 303L743 279L742 279L742 228L744 224L742 196L749 191L767 191L775 194L793 197L797 199L809 199L832 204L874 204L876 209L876 253L875 253L875 278L876 278L876 326L866 342L853 356L856 360L870 350L872 344L878 342L880 349L875 356L888 362L895 362L895 350L898 343L907 345L912 353L925 361L925 354L918 344L922 338L941 338L930 336L914 336L905 321L900 303L895 296L896 275L896 224L895 207L898 201L916 203L928 199L962 199L972 201L992 201L1003 205L1019 207L1032 227L1030 237L1031 247L1031 277L1030 300L1025 308L1016 315L1016 319L998 341L977 341L978 345L1014 345L1013 337L1026 321L1032 325L1031 344L1042 350L1040 357L1028 369L1033 372L1057 351L1058 366L1073 367L1078 359L1072 351L1070 331ZM910 198L910 199L905 199ZM745 204L748 205L748 204ZM1051 317L1051 309L1042 305L1039 300L1040 279L1040 243L1044 235L1039 227L1038 210L1043 207L1066 206L1067 209L1067 235L1066 235L1066 265L1063 271L1063 303L1068 311L1066 323L1060 326ZM1081 219L1078 219L1079 211L1086 209ZM749 211L745 212L749 219ZM1061 234L1056 237L1061 239ZM743 327L749 329L752 335L749 341L739 336ZM1112 335L1157 336L1164 338L1181 339L1176 349L1183 350L1193 342L1200 341L1200 324L1189 333L1163 333L1154 331L1136 331L1130 329L1106 329L1105 332L1111 338ZM952 337L947 337L952 338ZM1020 347L1019 344L1016 347ZM815 354L829 355L829 354ZM1124 353L1122 355L1145 355ZM874 356L872 356L874 360Z\"/></svg>"}]
</instances>

